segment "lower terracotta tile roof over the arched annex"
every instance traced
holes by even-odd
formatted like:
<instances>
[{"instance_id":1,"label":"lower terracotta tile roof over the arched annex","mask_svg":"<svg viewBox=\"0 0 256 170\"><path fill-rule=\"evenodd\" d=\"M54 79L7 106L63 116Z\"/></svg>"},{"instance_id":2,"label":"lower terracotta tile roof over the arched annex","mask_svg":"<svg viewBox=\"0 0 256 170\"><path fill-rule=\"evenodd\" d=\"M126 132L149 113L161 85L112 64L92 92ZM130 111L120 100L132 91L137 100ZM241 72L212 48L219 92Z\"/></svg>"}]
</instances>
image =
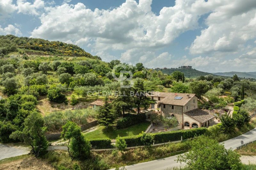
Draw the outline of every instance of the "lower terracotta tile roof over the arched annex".
<instances>
[{"instance_id":1,"label":"lower terracotta tile roof over the arched annex","mask_svg":"<svg viewBox=\"0 0 256 170\"><path fill-rule=\"evenodd\" d=\"M184 114L197 120L200 123L204 123L204 122L215 117L215 116L209 114L208 112L206 112L202 109L199 109L199 108L184 112Z\"/></svg>"}]
</instances>

